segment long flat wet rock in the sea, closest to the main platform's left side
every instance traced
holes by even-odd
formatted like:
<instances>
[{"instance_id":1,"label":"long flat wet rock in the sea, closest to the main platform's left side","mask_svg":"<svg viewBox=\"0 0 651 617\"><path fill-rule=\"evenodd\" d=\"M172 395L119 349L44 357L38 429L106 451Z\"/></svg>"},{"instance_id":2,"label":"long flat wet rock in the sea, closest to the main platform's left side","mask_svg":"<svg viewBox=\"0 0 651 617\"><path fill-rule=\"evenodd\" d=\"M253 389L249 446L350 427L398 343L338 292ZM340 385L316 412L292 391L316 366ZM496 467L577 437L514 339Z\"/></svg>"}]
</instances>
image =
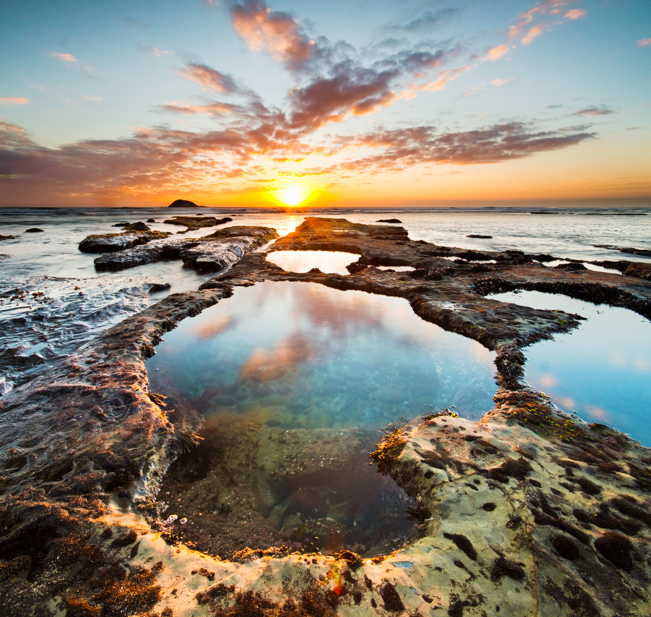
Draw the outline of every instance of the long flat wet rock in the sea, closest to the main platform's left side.
<instances>
[{"instance_id":1,"label":"long flat wet rock in the sea, closest to the main platform's left side","mask_svg":"<svg viewBox=\"0 0 651 617\"><path fill-rule=\"evenodd\" d=\"M236 225L202 238L168 240L102 255L94 263L96 270L104 271L143 266L163 259L181 259L187 266L218 271L278 236L278 232L271 227Z\"/></svg>"}]
</instances>

